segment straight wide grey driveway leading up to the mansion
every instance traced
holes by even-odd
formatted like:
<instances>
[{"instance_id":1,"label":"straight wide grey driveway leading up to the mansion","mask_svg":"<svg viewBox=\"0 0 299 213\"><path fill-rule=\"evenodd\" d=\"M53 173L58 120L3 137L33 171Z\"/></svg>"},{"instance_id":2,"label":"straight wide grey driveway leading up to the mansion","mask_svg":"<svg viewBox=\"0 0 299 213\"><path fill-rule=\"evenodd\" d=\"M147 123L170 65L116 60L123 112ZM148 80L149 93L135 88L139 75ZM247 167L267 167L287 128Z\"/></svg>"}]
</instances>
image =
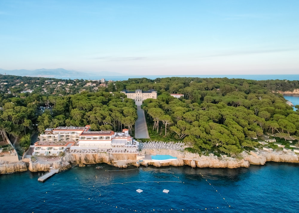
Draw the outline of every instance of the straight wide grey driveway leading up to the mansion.
<instances>
[{"instance_id":1,"label":"straight wide grey driveway leading up to the mansion","mask_svg":"<svg viewBox=\"0 0 299 213\"><path fill-rule=\"evenodd\" d=\"M135 138L149 138L149 132L147 130L147 122L145 121L145 115L141 106L137 106L137 121L135 123Z\"/></svg>"}]
</instances>

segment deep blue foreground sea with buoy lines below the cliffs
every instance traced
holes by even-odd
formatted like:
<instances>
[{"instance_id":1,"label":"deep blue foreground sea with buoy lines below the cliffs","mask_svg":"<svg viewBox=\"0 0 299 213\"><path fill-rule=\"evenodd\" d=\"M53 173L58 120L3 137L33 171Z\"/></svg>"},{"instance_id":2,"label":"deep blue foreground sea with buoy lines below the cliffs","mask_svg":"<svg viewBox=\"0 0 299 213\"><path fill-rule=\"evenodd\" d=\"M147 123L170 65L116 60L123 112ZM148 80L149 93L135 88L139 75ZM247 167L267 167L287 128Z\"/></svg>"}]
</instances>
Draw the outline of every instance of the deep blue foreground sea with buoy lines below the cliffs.
<instances>
[{"instance_id":1,"label":"deep blue foreground sea with buoy lines below the cliffs","mask_svg":"<svg viewBox=\"0 0 299 213\"><path fill-rule=\"evenodd\" d=\"M0 175L1 212L181 212L182 209L298 212L299 209L298 164L267 162L266 166L238 169L188 166L118 169L100 165L103 169L89 166L60 172L44 183L37 181L38 172ZM170 192L163 193L163 189Z\"/></svg>"}]
</instances>

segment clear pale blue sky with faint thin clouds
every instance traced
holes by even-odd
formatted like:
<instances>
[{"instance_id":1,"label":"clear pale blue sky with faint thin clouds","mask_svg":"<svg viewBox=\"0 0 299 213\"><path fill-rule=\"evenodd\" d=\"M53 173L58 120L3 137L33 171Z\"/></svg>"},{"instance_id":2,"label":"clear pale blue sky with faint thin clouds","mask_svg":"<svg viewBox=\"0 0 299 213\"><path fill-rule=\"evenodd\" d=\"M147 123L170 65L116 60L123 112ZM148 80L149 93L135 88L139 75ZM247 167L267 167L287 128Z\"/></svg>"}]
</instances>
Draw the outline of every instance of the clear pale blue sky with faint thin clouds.
<instances>
[{"instance_id":1,"label":"clear pale blue sky with faint thin clouds","mask_svg":"<svg viewBox=\"0 0 299 213\"><path fill-rule=\"evenodd\" d=\"M0 1L0 68L299 74L299 1Z\"/></svg>"}]
</instances>

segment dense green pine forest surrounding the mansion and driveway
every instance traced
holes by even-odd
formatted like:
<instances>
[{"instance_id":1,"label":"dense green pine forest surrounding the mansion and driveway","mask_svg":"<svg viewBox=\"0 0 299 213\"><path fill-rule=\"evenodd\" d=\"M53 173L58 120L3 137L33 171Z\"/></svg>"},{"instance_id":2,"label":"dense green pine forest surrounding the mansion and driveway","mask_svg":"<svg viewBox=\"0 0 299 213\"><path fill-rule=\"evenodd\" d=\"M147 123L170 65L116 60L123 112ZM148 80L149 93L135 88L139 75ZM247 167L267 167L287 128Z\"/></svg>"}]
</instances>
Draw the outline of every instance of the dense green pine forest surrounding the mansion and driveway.
<instances>
[{"instance_id":1,"label":"dense green pine forest surrounding the mansion and driveway","mask_svg":"<svg viewBox=\"0 0 299 213\"><path fill-rule=\"evenodd\" d=\"M5 78L9 81L10 76ZM19 79L23 84L25 80L31 84L36 81L30 77ZM2 84L5 89L0 94L0 106L3 107L0 110L1 133L5 131L21 138L20 145L24 147L29 145L28 140L22 140L24 135L57 126L89 124L92 130L114 131L126 127L134 133L136 105L119 91L155 89L157 99L147 99L142 105L151 138L184 141L194 152L217 150L231 156L244 148L257 146L256 139L266 132L285 140L299 139L298 112L276 92L298 89L299 81L135 78L110 82L107 87L99 87L98 92L83 89L86 81L77 81L76 85L82 87L75 94L42 93L38 90L45 86L42 83L37 90L32 85L33 92L25 95L20 90L7 93L15 87ZM38 82L44 82L44 79ZM75 81L68 82L73 84ZM5 83L3 78L0 83ZM63 91L63 86L60 87ZM171 93L184 96L178 99Z\"/></svg>"}]
</instances>

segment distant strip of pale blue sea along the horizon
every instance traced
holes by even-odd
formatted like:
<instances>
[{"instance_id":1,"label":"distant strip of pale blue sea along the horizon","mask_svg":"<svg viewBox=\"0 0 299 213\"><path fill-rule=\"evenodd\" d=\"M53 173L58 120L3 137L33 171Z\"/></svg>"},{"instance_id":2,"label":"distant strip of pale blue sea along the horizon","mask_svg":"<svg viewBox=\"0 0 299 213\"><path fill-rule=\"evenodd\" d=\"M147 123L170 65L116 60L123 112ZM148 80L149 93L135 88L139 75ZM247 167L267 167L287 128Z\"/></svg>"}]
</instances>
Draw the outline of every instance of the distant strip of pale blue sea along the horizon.
<instances>
[{"instance_id":1,"label":"distant strip of pale blue sea along the horizon","mask_svg":"<svg viewBox=\"0 0 299 213\"><path fill-rule=\"evenodd\" d=\"M95 80L105 78L106 81L124 81L129 78L169 78L169 77L198 77L198 78L242 78L242 79L250 79L250 80L290 80L295 81L299 80L299 75L115 75L115 76L97 76L94 77L86 77L86 76L76 76L74 78L85 79L85 80ZM55 78L61 78L61 76L56 76Z\"/></svg>"}]
</instances>

